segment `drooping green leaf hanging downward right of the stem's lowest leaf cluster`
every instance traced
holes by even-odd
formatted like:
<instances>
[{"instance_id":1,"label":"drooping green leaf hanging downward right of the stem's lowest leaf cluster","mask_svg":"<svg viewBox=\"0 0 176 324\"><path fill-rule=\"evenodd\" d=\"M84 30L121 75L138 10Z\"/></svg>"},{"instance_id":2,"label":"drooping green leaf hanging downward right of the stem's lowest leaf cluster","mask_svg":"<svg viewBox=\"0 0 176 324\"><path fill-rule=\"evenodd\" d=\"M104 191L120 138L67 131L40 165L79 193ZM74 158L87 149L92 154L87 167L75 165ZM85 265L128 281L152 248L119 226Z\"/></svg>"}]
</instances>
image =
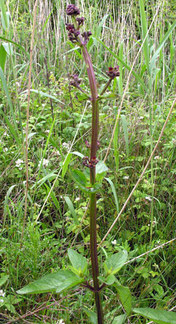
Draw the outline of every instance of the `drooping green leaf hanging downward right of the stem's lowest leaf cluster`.
<instances>
[{"instance_id":1,"label":"drooping green leaf hanging downward right of the stem's lowest leaf cluster","mask_svg":"<svg viewBox=\"0 0 176 324\"><path fill-rule=\"evenodd\" d=\"M124 287L121 285L115 285L116 290L118 291L118 295L120 297L120 301L122 303L122 306L124 307L124 310L126 311L126 315L129 316L131 313L131 291L129 290L129 287Z\"/></svg>"}]
</instances>

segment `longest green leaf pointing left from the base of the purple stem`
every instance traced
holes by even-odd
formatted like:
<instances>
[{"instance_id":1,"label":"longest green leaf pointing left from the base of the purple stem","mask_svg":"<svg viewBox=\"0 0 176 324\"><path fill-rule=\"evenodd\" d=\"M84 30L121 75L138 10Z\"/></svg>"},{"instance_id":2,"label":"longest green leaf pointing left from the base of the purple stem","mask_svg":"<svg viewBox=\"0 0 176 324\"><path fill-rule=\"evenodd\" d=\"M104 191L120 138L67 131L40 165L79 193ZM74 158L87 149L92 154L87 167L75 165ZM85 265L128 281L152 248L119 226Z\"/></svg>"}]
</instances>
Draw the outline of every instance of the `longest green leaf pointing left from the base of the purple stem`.
<instances>
[{"instance_id":1,"label":"longest green leaf pointing left from the base of the purple stem","mask_svg":"<svg viewBox=\"0 0 176 324\"><path fill-rule=\"evenodd\" d=\"M43 278L30 283L17 290L17 294L41 294L42 292L56 292L56 289L67 279L74 276L72 271L59 270L52 274L46 274ZM75 277L75 276L74 276Z\"/></svg>"}]
</instances>

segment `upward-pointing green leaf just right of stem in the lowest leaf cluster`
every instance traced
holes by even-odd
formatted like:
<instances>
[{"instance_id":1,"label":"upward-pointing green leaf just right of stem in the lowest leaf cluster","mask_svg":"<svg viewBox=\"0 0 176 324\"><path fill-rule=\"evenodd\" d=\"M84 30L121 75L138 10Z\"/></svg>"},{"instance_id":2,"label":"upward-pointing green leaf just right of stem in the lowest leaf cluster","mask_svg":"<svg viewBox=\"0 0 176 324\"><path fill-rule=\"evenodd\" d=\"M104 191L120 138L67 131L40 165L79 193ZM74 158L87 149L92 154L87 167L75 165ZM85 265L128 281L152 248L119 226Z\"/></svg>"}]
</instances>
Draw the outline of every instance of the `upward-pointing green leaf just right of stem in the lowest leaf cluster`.
<instances>
[{"instance_id":1,"label":"upward-pointing green leaf just right of stem in the lowest leaf cluster","mask_svg":"<svg viewBox=\"0 0 176 324\"><path fill-rule=\"evenodd\" d=\"M104 262L105 270L108 269L108 274L116 274L127 260L128 253L126 250L115 253Z\"/></svg>"}]
</instances>

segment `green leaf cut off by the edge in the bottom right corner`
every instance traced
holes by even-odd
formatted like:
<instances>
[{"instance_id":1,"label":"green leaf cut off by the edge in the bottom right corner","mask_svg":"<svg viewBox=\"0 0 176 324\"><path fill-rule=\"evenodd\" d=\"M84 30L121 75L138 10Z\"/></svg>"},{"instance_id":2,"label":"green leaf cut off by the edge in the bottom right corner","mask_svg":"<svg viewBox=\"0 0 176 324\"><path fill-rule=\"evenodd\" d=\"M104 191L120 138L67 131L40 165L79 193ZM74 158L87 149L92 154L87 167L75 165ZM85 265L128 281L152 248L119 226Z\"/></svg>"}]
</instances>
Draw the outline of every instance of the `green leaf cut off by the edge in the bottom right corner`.
<instances>
[{"instance_id":1,"label":"green leaf cut off by the edge in the bottom right corner","mask_svg":"<svg viewBox=\"0 0 176 324\"><path fill-rule=\"evenodd\" d=\"M167 312L166 310L153 310L153 308L134 308L133 312L135 314L140 314L157 324L175 324L176 323L176 313Z\"/></svg>"}]
</instances>

